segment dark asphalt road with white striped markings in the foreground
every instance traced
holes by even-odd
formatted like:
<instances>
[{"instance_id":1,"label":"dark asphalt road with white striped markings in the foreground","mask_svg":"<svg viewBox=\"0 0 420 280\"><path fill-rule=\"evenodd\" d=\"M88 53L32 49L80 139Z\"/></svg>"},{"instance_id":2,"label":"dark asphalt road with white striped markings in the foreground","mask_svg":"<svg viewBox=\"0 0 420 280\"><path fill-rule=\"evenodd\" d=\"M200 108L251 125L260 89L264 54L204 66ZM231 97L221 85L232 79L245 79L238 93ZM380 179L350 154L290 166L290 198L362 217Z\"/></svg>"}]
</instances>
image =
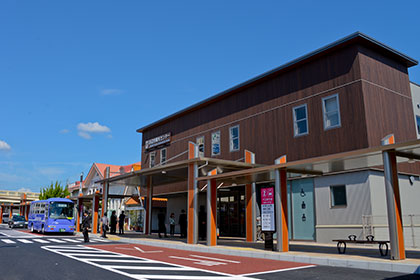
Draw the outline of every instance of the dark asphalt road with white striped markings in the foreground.
<instances>
[{"instance_id":1,"label":"dark asphalt road with white striped markings in the foreground","mask_svg":"<svg viewBox=\"0 0 420 280\"><path fill-rule=\"evenodd\" d=\"M36 240L43 240L39 242ZM69 241L73 240L73 241ZM5 240L8 240L5 242ZM22 242L26 240L26 242ZM57 242L60 241L60 242ZM149 247L139 245L95 241L85 246L80 237L47 235L38 236L9 230L0 226L0 279L139 279L139 275L148 275L148 279L420 279L419 275L403 275L399 273L326 267L292 265L291 270L270 273L259 271L259 274L247 274L245 277L231 273L223 273L212 269L212 262L242 261L232 256L218 257L218 260L206 254L188 258L206 258L203 267L185 265L184 257L177 260L151 257ZM30 242L30 243L28 243ZM137 247L139 250L128 250ZM115 249L116 248L116 249ZM124 249L125 248L125 249ZM164 251L165 248L156 250ZM140 252L140 253L139 253ZM142 254L143 253L143 254ZM160 252L160 258L169 253ZM170 255L184 256L191 252L173 250ZM251 263L251 264L250 264ZM261 260L251 259L243 262L249 266L258 265ZM236 263L236 265L239 265ZM272 265L272 264L270 264ZM280 267L285 264L279 262ZM287 264L289 265L289 264ZM217 265L214 265L217 267ZM240 267L240 265L239 265ZM267 270L272 271L270 266Z\"/></svg>"}]
</instances>

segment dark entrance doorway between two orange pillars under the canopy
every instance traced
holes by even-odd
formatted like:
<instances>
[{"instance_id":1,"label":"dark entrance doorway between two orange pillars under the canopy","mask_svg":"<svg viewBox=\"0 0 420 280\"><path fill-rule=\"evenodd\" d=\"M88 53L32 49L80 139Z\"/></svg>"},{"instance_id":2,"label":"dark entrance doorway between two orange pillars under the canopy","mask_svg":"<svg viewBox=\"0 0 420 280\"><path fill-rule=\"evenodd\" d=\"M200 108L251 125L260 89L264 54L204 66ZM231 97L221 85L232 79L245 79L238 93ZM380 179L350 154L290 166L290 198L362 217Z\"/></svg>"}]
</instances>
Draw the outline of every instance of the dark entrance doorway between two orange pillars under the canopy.
<instances>
[{"instance_id":1,"label":"dark entrance doorway between two orange pillars under the canopy","mask_svg":"<svg viewBox=\"0 0 420 280\"><path fill-rule=\"evenodd\" d=\"M245 237L245 189L217 190L217 223L220 236Z\"/></svg>"}]
</instances>

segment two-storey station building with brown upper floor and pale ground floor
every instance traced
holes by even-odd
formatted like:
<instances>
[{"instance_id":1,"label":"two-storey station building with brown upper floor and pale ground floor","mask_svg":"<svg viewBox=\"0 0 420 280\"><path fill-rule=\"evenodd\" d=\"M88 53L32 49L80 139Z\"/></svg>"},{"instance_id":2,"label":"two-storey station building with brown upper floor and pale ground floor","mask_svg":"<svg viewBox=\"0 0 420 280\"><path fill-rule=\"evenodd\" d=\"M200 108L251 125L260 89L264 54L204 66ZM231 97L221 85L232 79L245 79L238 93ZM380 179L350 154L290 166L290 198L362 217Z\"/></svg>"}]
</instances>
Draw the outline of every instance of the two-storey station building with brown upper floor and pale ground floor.
<instances>
[{"instance_id":1,"label":"two-storey station building with brown upper floor and pale ground floor","mask_svg":"<svg viewBox=\"0 0 420 280\"><path fill-rule=\"evenodd\" d=\"M420 92L408 76L408 68L417 64L356 32L138 129L142 170L102 183L110 189L121 182L138 185L148 199L167 198L167 217L179 217L185 209L189 243L197 242L200 206L212 212L206 215L216 224L207 226L216 226L220 236L253 241L260 190L276 182L274 172L258 177L258 170L287 159L304 166L287 170L287 195L281 199L287 203L288 239L390 238L382 160L361 157L349 164L337 158L380 155L387 135L401 147L420 143ZM408 247L420 244L420 165L415 160L413 154L398 163ZM304 165L314 162L323 172ZM256 171L242 176L241 170ZM215 173L234 175L213 185L206 177ZM150 212L147 223L156 223ZM412 232L405 227L410 219L416 224Z\"/></svg>"}]
</instances>

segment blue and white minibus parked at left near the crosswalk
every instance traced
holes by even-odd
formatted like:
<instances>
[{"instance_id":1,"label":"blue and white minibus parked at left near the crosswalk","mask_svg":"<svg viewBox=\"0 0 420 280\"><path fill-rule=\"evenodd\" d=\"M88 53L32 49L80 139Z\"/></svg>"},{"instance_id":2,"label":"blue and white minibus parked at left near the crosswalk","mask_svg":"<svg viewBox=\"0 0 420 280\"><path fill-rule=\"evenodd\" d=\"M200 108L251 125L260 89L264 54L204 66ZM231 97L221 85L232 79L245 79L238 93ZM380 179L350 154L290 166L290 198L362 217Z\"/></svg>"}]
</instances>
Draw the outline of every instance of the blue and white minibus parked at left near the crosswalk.
<instances>
[{"instance_id":1,"label":"blue and white minibus parked at left near the crosswalk","mask_svg":"<svg viewBox=\"0 0 420 280\"><path fill-rule=\"evenodd\" d=\"M31 202L28 227L31 232L69 232L73 233L74 203L67 198L49 198Z\"/></svg>"}]
</instances>

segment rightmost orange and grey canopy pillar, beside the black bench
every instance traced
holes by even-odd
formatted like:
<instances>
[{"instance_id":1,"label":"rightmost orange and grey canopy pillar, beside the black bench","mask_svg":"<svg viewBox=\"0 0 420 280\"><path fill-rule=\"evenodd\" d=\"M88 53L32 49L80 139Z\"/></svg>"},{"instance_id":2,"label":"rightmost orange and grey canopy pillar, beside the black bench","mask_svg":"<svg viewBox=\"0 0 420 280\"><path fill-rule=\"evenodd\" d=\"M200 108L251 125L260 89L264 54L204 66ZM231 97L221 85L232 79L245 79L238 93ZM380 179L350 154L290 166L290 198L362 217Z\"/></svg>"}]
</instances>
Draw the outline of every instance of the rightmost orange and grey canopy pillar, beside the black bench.
<instances>
[{"instance_id":1,"label":"rightmost orange and grey canopy pillar, beside the black bench","mask_svg":"<svg viewBox=\"0 0 420 280\"><path fill-rule=\"evenodd\" d=\"M390 134L382 139L383 146L392 144L395 144L393 134ZM400 187L398 183L397 156L395 150L383 151L382 158L384 163L385 194L388 212L391 259L405 260Z\"/></svg>"}]
</instances>

